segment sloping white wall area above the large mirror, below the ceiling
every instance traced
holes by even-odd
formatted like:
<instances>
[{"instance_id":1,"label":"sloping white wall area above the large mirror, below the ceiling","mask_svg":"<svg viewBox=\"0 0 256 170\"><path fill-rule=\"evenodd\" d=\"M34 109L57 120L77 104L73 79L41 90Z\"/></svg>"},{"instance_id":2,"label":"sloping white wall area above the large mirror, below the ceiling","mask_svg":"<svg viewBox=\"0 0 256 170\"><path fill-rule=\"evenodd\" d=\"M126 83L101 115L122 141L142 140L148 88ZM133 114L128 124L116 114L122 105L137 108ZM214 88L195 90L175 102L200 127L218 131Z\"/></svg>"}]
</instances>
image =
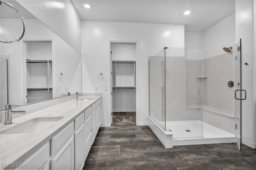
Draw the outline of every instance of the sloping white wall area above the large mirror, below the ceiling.
<instances>
[{"instance_id":1,"label":"sloping white wall area above the large mirror, below the ceiling","mask_svg":"<svg viewBox=\"0 0 256 170\"><path fill-rule=\"evenodd\" d=\"M81 19L70 0L16 0L81 53Z\"/></svg>"}]
</instances>

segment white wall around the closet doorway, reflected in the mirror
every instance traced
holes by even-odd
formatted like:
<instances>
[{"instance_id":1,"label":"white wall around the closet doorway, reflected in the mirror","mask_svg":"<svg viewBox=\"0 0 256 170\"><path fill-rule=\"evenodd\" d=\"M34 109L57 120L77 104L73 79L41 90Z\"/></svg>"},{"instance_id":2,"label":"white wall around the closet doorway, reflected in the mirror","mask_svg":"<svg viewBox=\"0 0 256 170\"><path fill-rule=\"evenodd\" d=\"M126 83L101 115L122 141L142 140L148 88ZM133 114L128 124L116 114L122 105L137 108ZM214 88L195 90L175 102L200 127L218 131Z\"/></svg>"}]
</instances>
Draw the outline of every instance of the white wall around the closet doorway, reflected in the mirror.
<instances>
[{"instance_id":1,"label":"white wall around the closet doorway, reflected in the mirror","mask_svg":"<svg viewBox=\"0 0 256 170\"><path fill-rule=\"evenodd\" d=\"M20 19L1 18L1 24L20 22ZM9 23L9 24L7 24ZM15 27L10 27L12 32ZM1 54L10 55L10 103L12 105L24 104L24 74L22 67L22 43L24 40L52 39L53 44L53 97L59 97L65 93L65 87L70 92L80 92L81 87L81 55L68 43L64 42L59 36L47 28L42 22L36 19L26 19L26 33L22 40L17 43L1 43ZM63 73L64 77L60 81L58 73ZM58 86L58 92L55 87Z\"/></svg>"}]
</instances>

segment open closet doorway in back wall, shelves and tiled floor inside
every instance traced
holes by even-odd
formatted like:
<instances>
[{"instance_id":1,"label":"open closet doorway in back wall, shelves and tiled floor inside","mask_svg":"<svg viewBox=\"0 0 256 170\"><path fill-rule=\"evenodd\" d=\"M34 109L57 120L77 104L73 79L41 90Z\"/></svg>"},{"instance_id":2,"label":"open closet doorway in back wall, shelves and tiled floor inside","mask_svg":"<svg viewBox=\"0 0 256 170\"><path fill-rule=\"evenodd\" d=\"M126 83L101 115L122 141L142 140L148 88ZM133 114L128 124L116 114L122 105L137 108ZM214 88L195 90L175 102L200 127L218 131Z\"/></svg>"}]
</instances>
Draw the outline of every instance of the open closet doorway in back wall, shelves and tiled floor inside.
<instances>
[{"instance_id":1,"label":"open closet doorway in back wall, shelves and tiled floor inside","mask_svg":"<svg viewBox=\"0 0 256 170\"><path fill-rule=\"evenodd\" d=\"M111 125L138 125L138 42L110 41Z\"/></svg>"}]
</instances>

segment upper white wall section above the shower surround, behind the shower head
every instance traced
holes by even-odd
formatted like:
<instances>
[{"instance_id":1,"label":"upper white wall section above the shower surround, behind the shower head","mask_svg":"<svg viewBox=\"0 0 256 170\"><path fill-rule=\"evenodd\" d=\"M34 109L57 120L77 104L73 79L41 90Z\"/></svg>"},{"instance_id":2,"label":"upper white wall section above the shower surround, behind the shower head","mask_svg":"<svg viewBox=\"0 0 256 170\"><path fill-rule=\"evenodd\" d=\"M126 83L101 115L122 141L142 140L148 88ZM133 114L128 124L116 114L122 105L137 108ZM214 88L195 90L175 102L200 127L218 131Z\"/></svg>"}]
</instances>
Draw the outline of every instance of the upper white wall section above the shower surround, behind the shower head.
<instances>
[{"instance_id":1,"label":"upper white wall section above the shower surround, behind the shower head","mask_svg":"<svg viewBox=\"0 0 256 170\"><path fill-rule=\"evenodd\" d=\"M225 53L223 47L233 46L235 42L235 14L203 32L204 59Z\"/></svg>"}]
</instances>

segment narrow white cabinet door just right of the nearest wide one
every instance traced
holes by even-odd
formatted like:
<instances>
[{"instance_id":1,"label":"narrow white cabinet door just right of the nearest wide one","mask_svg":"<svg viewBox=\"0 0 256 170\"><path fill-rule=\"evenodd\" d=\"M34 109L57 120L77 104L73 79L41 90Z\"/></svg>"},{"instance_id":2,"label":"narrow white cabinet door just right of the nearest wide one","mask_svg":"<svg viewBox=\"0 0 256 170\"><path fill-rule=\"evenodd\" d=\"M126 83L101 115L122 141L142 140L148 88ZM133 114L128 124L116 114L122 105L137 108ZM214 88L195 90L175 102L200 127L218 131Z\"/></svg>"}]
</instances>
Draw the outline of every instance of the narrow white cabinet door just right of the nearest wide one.
<instances>
[{"instance_id":1,"label":"narrow white cabinet door just right of the nearest wide one","mask_svg":"<svg viewBox=\"0 0 256 170\"><path fill-rule=\"evenodd\" d=\"M84 124L75 134L75 169L82 169L84 166Z\"/></svg>"}]
</instances>

